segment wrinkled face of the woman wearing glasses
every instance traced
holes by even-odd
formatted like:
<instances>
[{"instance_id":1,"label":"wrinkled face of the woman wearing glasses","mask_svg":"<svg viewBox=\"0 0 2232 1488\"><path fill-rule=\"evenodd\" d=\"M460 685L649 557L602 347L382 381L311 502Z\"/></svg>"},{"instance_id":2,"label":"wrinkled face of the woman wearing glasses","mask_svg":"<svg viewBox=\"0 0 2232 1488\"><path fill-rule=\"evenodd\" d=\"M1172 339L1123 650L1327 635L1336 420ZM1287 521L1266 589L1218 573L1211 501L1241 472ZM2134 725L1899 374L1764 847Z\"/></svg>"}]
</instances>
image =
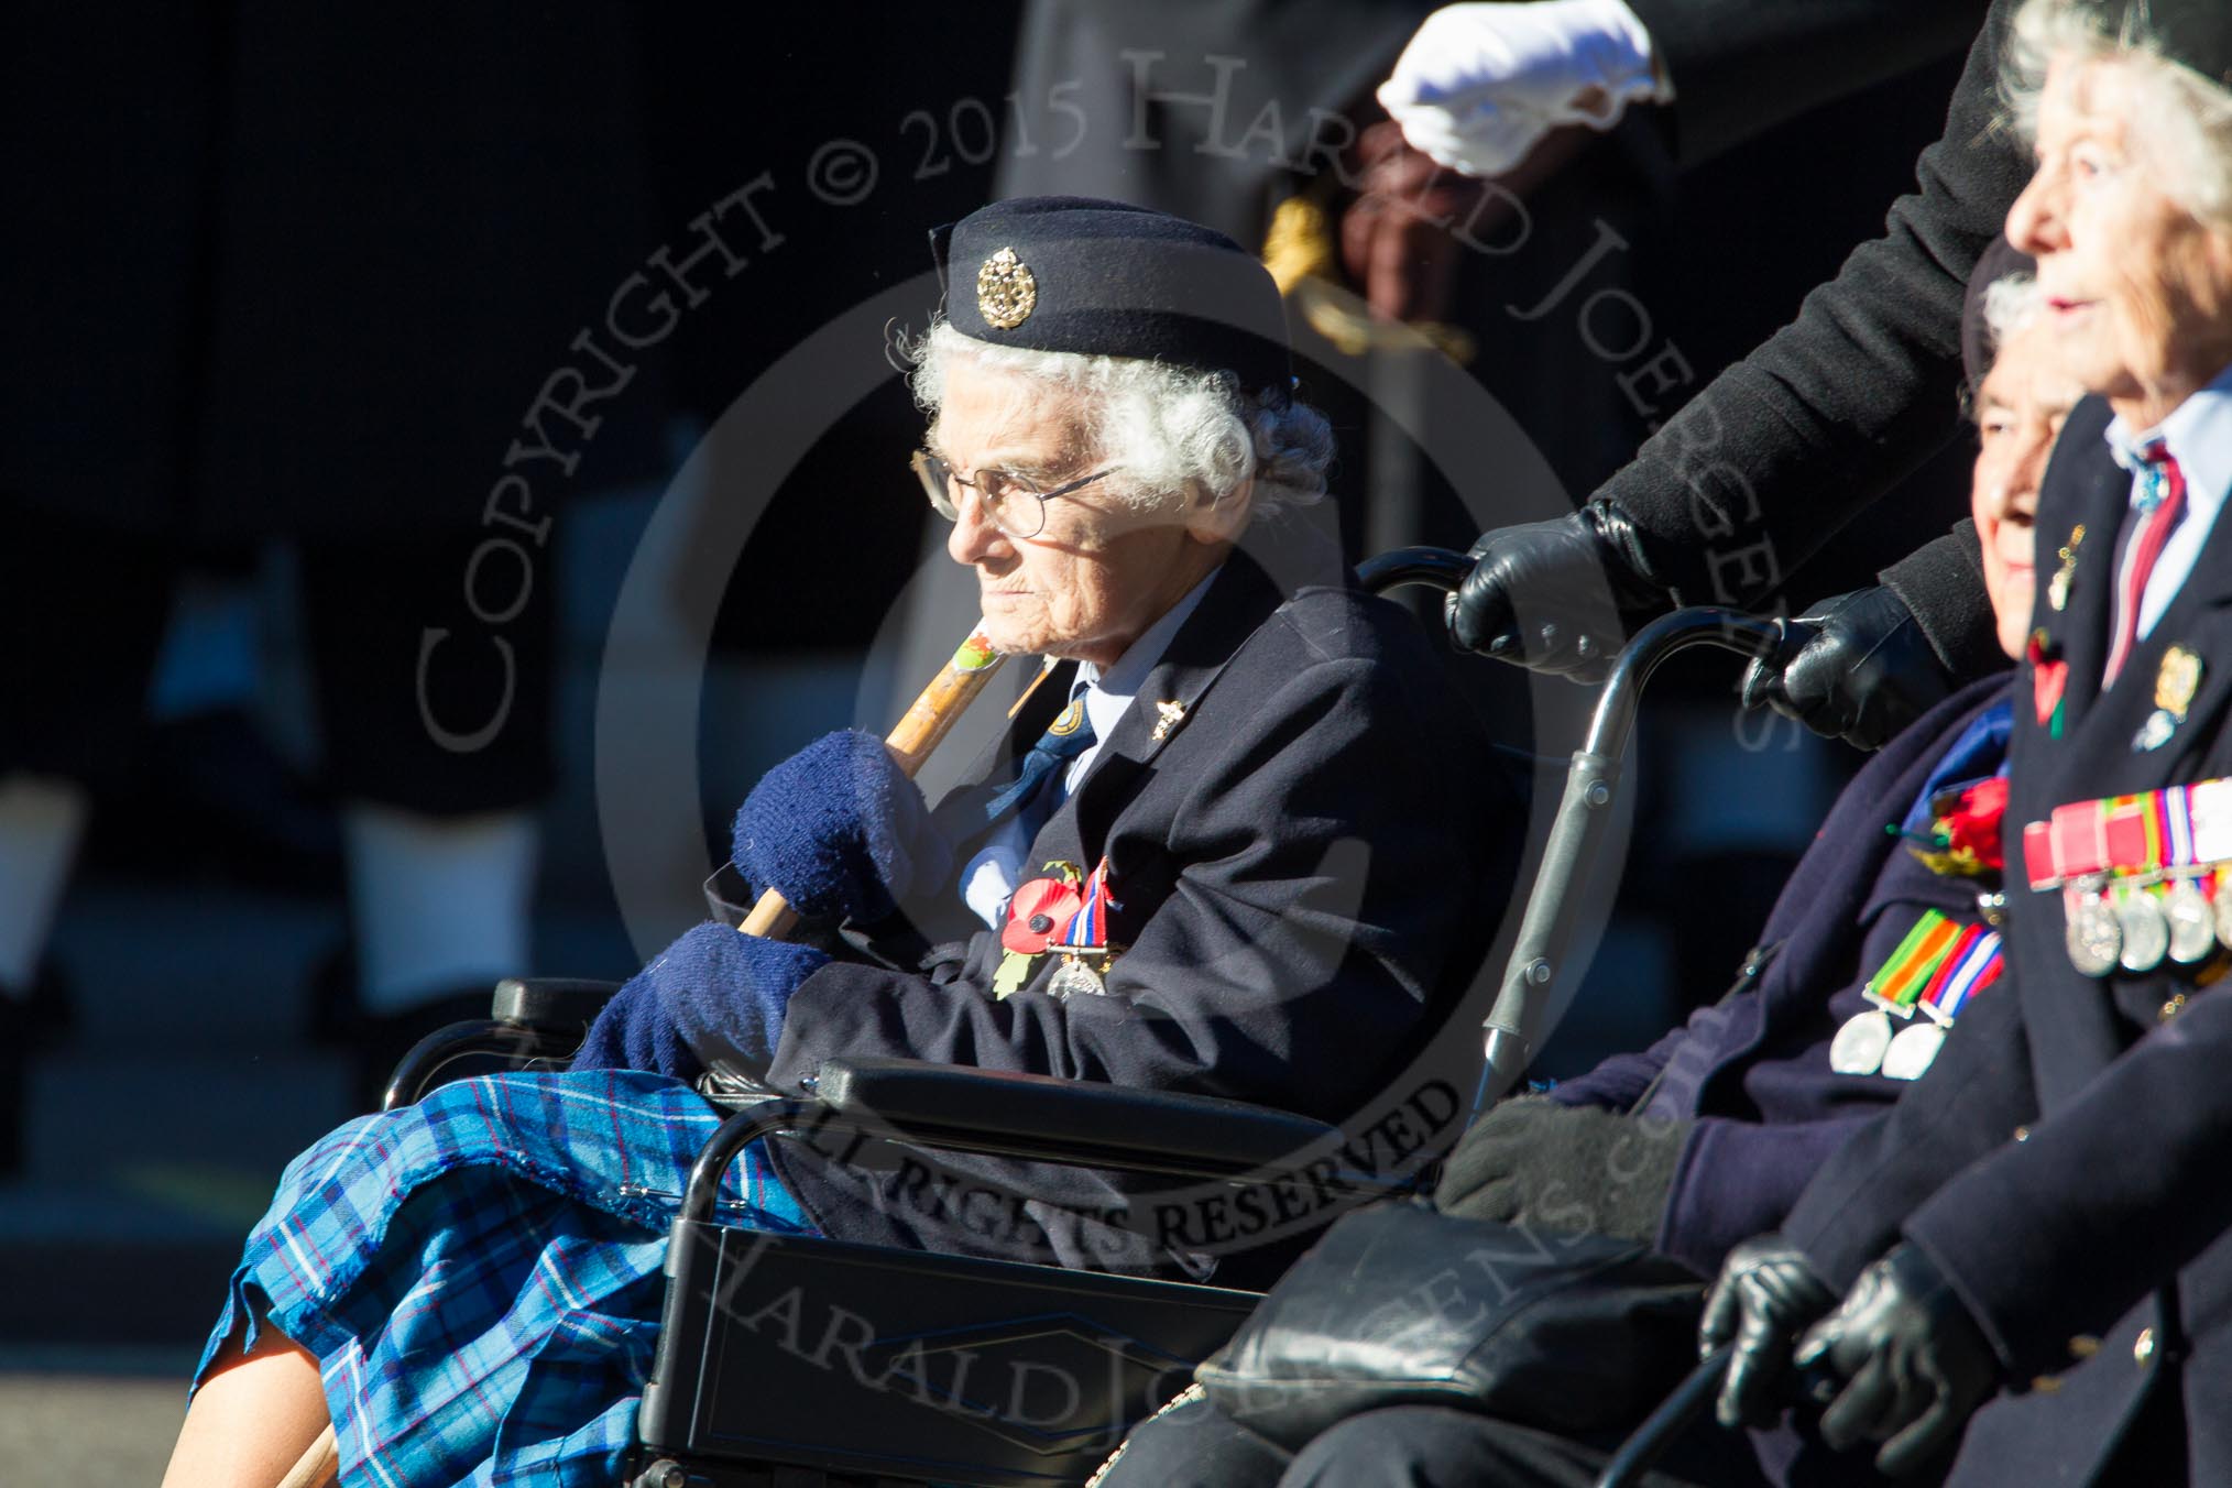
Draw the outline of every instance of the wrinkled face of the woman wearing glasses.
<instances>
[{"instance_id":1,"label":"wrinkled face of the woman wearing glasses","mask_svg":"<svg viewBox=\"0 0 2232 1488\"><path fill-rule=\"evenodd\" d=\"M1054 489L1091 475L1083 408L1049 397L1042 384L958 359L929 446L962 477L980 471L1029 475ZM1214 569L1245 511L1245 495L1221 511L1192 495L1141 511L1125 500L1123 471L1047 502L1036 538L993 526L975 493L953 493L960 520L946 540L953 562L978 576L984 638L1009 654L1112 665Z\"/></svg>"}]
</instances>

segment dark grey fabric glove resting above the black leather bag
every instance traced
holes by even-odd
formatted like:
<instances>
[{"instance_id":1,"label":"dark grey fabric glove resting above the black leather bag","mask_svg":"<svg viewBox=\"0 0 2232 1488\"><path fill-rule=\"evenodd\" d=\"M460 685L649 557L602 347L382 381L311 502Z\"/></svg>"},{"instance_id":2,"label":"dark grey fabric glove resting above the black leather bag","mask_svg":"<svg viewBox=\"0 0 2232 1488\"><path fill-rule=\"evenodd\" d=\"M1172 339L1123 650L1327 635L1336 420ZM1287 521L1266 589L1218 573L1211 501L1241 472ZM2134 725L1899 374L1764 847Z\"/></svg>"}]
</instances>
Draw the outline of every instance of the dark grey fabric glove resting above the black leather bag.
<instances>
[{"instance_id":1,"label":"dark grey fabric glove resting above the black leather bag","mask_svg":"<svg viewBox=\"0 0 2232 1488\"><path fill-rule=\"evenodd\" d=\"M1466 1220L1656 1240L1690 1122L1638 1120L1540 1095L1507 1100L1464 1133L1433 1207Z\"/></svg>"}]
</instances>

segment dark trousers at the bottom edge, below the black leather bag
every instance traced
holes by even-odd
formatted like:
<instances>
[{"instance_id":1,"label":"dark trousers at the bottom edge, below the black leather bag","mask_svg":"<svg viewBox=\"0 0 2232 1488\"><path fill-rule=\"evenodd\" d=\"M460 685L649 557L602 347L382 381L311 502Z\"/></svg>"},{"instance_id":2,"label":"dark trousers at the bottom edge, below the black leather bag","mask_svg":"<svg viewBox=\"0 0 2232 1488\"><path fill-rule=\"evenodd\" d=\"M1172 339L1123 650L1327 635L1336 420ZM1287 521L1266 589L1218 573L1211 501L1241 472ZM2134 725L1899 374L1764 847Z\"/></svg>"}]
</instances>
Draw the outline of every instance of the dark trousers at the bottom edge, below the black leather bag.
<instances>
[{"instance_id":1,"label":"dark trousers at the bottom edge, below the black leather bag","mask_svg":"<svg viewBox=\"0 0 2232 1488\"><path fill-rule=\"evenodd\" d=\"M1763 1484L1739 1439L1714 1428L1647 1488ZM1609 1448L1442 1405L1391 1405L1350 1417L1299 1452L1272 1446L1205 1399L1132 1432L1096 1488L1591 1488ZM1694 1477L1692 1477L1694 1475Z\"/></svg>"}]
</instances>

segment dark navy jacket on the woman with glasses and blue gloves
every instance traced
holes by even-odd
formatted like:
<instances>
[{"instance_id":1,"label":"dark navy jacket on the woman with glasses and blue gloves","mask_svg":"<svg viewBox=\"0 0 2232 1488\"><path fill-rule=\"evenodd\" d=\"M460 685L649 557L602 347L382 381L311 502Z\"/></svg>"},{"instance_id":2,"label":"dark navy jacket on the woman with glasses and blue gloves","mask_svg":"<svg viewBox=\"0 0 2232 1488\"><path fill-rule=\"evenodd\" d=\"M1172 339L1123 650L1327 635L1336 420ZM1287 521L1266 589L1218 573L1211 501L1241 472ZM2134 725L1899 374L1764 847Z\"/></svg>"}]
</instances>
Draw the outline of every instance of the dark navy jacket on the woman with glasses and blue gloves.
<instances>
[{"instance_id":1,"label":"dark navy jacket on the woman with glasses and blue gloves","mask_svg":"<svg viewBox=\"0 0 2232 1488\"><path fill-rule=\"evenodd\" d=\"M1013 779L1065 676L940 803L942 823L982 834L982 799ZM1163 736L1156 703L1185 709ZM1259 522L1031 843L1031 870L1107 859L1109 939L1125 946L1107 995L1056 997L1047 957L995 997L1000 937L984 928L922 966L835 962L790 999L770 1080L899 1055L1353 1120L1406 1093L1406 1066L1462 999L1522 830L1420 627L1362 593L1301 520ZM1408 1131L1393 1144L1411 1153L1382 1165L1455 1133L1455 1100L1424 1107L1446 1124L1384 1127ZM775 1160L824 1234L877 1245L1199 1276L1208 1252L1281 1218L1174 1220L1145 1180L995 1158L940 1153L929 1173L913 1153L779 1140Z\"/></svg>"}]
</instances>

